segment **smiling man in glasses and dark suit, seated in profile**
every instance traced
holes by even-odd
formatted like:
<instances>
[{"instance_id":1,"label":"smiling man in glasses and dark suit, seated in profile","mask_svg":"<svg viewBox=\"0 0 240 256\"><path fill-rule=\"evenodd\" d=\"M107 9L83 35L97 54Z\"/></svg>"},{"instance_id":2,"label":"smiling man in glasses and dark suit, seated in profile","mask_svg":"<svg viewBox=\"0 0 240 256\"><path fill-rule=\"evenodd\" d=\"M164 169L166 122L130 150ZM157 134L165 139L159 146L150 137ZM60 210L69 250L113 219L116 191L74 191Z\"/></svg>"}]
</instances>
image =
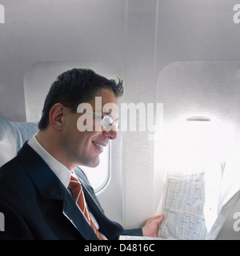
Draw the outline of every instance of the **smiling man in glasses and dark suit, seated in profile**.
<instances>
[{"instance_id":1,"label":"smiling man in glasses and dark suit, seated in profile","mask_svg":"<svg viewBox=\"0 0 240 256\"><path fill-rule=\"evenodd\" d=\"M150 218L142 229L123 230L106 218L87 178L75 168L98 166L104 146L117 138L117 110L106 106L117 106L122 92L122 81L93 70L73 69L58 76L46 96L39 133L0 169L0 212L5 216L1 239L156 236L162 215ZM84 104L93 111L78 107Z\"/></svg>"}]
</instances>

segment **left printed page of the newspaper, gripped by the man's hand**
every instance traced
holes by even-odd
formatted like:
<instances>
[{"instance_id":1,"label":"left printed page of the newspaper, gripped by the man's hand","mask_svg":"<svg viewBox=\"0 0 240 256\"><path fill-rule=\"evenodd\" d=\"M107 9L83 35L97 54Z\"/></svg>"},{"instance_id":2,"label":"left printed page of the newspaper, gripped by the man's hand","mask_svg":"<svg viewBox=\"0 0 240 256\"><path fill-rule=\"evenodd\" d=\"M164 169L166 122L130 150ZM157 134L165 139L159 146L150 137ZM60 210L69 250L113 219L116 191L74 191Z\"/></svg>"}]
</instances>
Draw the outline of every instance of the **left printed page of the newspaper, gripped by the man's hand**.
<instances>
[{"instance_id":1,"label":"left printed page of the newspaper, gripped by the man's hand","mask_svg":"<svg viewBox=\"0 0 240 256\"><path fill-rule=\"evenodd\" d=\"M162 202L165 218L159 226L158 237L205 239L204 202L204 173L168 176Z\"/></svg>"}]
</instances>

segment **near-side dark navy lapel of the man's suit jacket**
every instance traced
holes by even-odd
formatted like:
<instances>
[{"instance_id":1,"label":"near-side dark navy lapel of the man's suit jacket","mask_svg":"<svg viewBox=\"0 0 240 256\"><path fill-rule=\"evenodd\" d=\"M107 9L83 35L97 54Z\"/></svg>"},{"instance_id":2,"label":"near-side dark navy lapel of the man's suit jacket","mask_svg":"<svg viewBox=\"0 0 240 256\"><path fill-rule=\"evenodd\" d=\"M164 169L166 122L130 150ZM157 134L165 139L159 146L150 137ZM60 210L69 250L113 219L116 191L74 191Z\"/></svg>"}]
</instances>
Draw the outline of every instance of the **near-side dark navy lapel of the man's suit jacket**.
<instances>
[{"instance_id":1,"label":"near-side dark navy lapel of the man's suit jacket","mask_svg":"<svg viewBox=\"0 0 240 256\"><path fill-rule=\"evenodd\" d=\"M45 200L62 200L62 214L86 239L98 239L74 199L46 162L27 144L18 152L18 158Z\"/></svg>"}]
</instances>

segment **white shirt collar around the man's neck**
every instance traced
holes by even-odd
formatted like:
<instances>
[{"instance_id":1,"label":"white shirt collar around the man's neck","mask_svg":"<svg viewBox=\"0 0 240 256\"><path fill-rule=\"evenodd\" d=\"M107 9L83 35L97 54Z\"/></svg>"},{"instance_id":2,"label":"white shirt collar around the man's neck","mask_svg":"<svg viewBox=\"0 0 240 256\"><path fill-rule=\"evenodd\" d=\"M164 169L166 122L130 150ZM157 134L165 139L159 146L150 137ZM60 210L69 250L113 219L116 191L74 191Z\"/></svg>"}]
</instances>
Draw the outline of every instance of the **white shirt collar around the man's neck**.
<instances>
[{"instance_id":1,"label":"white shirt collar around the man's neck","mask_svg":"<svg viewBox=\"0 0 240 256\"><path fill-rule=\"evenodd\" d=\"M62 184L67 188L71 177L70 170L61 162L59 162L56 158L50 155L41 146L35 136L36 134L34 134L32 138L30 138L28 142L29 146L40 155L40 157L46 162L46 164L50 167L54 174L59 178Z\"/></svg>"}]
</instances>

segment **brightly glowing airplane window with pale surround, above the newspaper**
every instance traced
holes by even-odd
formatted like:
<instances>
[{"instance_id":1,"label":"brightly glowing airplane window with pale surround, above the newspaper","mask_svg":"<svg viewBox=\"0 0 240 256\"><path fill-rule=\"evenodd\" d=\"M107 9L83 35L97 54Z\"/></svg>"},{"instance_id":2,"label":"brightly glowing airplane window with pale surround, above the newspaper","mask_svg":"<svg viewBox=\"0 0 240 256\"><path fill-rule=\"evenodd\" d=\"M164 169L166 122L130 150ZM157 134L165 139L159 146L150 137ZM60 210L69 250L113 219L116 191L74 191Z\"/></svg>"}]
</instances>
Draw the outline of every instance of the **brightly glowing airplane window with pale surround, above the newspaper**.
<instances>
[{"instance_id":1,"label":"brightly glowing airplane window with pale surround, above the newspaper","mask_svg":"<svg viewBox=\"0 0 240 256\"><path fill-rule=\"evenodd\" d=\"M158 102L164 106L166 172L178 171L180 163L182 171L194 171L194 166L224 161L238 151L239 65L174 62L160 72Z\"/></svg>"}]
</instances>

